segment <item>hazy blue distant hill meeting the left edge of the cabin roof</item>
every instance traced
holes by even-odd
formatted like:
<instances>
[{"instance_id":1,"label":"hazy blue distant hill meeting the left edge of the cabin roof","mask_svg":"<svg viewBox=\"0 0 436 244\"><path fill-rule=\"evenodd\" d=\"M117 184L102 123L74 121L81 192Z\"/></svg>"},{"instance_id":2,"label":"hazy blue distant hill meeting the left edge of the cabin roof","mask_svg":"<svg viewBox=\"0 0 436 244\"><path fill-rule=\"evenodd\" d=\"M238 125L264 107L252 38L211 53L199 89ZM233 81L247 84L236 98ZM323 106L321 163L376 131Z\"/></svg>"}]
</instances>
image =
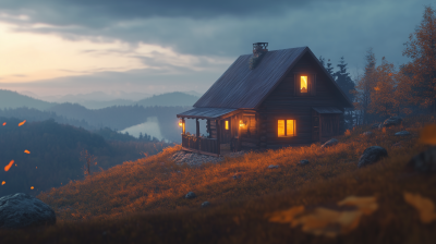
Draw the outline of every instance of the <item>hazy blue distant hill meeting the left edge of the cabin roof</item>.
<instances>
[{"instance_id":1,"label":"hazy blue distant hill meeting the left edge of the cabin roof","mask_svg":"<svg viewBox=\"0 0 436 244\"><path fill-rule=\"evenodd\" d=\"M187 95L185 93L168 93L161 95L154 95L142 100L134 102L144 107L150 106L193 106L198 100L197 96Z\"/></svg>"}]
</instances>

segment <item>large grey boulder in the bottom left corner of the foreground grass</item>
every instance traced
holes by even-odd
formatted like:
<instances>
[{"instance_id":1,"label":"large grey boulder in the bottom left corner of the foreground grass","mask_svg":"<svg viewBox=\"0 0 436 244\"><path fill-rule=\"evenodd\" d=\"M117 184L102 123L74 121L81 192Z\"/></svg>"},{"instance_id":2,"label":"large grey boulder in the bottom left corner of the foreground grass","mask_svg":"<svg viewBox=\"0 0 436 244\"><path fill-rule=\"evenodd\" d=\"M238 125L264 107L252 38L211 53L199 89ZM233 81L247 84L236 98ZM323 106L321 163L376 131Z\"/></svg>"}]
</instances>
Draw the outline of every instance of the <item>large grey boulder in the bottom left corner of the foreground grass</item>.
<instances>
[{"instance_id":1,"label":"large grey boulder in the bottom left corner of the foreground grass","mask_svg":"<svg viewBox=\"0 0 436 244\"><path fill-rule=\"evenodd\" d=\"M16 193L0 198L0 228L19 229L56 223L53 209L41 200Z\"/></svg>"}]
</instances>

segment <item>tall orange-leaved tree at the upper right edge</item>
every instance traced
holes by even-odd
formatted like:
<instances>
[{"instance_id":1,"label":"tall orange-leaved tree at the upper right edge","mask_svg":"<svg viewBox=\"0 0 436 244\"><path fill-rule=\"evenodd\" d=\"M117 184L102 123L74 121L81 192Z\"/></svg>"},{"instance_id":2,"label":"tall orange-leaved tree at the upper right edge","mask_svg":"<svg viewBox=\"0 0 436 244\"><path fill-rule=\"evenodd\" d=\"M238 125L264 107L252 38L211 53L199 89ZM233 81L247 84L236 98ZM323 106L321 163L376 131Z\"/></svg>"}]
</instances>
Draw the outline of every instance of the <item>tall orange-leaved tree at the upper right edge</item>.
<instances>
[{"instance_id":1,"label":"tall orange-leaved tree at the upper right edge","mask_svg":"<svg viewBox=\"0 0 436 244\"><path fill-rule=\"evenodd\" d=\"M403 83L411 86L411 100L436 111L436 16L425 7L423 20L410 34L402 54L412 59L402 69ZM404 85L402 84L402 85Z\"/></svg>"}]
</instances>

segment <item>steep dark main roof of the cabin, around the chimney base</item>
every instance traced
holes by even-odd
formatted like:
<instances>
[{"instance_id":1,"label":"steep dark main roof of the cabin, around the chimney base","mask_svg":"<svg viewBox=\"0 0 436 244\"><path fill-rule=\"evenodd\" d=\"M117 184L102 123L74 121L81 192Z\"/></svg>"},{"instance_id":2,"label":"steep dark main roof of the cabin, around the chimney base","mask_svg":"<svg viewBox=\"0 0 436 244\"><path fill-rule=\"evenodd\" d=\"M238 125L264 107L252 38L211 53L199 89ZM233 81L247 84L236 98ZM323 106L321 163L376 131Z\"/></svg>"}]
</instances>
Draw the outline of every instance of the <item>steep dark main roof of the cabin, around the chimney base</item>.
<instances>
[{"instance_id":1,"label":"steep dark main roof of the cabin, around the chimney base","mask_svg":"<svg viewBox=\"0 0 436 244\"><path fill-rule=\"evenodd\" d=\"M308 47L267 51L254 70L249 66L252 54L240 56L194 107L256 109L306 52L312 54L327 74L344 107L352 107L352 102Z\"/></svg>"}]
</instances>

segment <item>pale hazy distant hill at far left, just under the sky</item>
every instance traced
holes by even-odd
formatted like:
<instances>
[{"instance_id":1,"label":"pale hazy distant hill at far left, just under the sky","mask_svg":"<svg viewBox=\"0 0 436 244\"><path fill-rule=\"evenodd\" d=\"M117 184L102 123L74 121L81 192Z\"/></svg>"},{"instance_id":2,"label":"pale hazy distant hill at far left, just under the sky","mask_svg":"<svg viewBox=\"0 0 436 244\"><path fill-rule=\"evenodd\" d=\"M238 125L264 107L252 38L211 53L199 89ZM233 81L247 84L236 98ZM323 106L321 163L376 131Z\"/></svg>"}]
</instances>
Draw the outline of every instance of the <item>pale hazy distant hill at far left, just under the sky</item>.
<instances>
[{"instance_id":1,"label":"pale hazy distant hill at far left, just under the sky","mask_svg":"<svg viewBox=\"0 0 436 244\"><path fill-rule=\"evenodd\" d=\"M15 109L21 107L45 110L53 106L52 102L38 100L12 90L0 89L0 109Z\"/></svg>"}]
</instances>

